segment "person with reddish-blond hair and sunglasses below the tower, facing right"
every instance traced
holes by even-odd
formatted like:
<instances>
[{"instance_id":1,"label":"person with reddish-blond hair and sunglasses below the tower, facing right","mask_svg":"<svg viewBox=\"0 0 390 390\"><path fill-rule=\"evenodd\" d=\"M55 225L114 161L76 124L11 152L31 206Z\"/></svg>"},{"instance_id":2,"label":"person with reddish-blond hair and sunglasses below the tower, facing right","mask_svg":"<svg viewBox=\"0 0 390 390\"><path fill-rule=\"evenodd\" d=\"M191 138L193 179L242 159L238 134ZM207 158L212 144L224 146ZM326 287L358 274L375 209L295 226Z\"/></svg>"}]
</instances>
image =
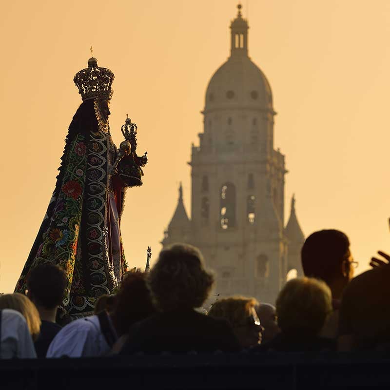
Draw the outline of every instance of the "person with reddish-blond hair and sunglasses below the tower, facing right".
<instances>
[{"instance_id":1,"label":"person with reddish-blond hair and sunglasses below the tower, facing right","mask_svg":"<svg viewBox=\"0 0 390 390\"><path fill-rule=\"evenodd\" d=\"M261 343L264 328L260 324L254 298L232 296L213 303L209 316L226 319L233 328L241 348L254 347Z\"/></svg>"}]
</instances>

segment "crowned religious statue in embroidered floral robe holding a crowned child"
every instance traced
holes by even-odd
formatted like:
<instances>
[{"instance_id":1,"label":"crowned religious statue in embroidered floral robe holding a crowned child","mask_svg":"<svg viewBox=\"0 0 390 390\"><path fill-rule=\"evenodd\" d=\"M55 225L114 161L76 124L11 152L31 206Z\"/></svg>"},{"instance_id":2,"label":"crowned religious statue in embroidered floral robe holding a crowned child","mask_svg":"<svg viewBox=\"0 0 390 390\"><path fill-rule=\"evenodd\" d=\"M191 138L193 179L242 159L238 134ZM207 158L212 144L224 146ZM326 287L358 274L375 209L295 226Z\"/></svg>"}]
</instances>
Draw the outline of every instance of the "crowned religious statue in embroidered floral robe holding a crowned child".
<instances>
[{"instance_id":1,"label":"crowned religious statue in embroidered floral robe holding a crowned child","mask_svg":"<svg viewBox=\"0 0 390 390\"><path fill-rule=\"evenodd\" d=\"M92 52L92 49L91 49ZM146 153L137 156L137 125L127 117L125 140L115 146L108 122L114 74L96 58L74 78L82 103L69 126L57 183L39 233L17 283L24 293L29 271L53 263L68 276L60 311L91 315L127 272L120 218L127 187L142 185ZM50 292L48 292L50 293Z\"/></svg>"}]
</instances>

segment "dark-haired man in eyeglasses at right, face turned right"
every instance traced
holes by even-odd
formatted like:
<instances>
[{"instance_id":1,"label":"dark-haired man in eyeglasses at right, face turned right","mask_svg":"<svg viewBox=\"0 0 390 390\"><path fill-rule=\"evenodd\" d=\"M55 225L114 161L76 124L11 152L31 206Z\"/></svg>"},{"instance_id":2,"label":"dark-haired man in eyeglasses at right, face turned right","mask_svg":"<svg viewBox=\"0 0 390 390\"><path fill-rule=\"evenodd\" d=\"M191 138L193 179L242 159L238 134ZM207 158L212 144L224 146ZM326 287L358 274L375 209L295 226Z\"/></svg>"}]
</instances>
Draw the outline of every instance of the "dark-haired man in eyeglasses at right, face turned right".
<instances>
[{"instance_id":1,"label":"dark-haired man in eyeglasses at right, face turned right","mask_svg":"<svg viewBox=\"0 0 390 390\"><path fill-rule=\"evenodd\" d=\"M331 289L333 312L321 335L335 339L341 296L358 266L351 254L350 240L345 233L335 229L314 232L303 244L301 260L305 276L321 279Z\"/></svg>"}]
</instances>

